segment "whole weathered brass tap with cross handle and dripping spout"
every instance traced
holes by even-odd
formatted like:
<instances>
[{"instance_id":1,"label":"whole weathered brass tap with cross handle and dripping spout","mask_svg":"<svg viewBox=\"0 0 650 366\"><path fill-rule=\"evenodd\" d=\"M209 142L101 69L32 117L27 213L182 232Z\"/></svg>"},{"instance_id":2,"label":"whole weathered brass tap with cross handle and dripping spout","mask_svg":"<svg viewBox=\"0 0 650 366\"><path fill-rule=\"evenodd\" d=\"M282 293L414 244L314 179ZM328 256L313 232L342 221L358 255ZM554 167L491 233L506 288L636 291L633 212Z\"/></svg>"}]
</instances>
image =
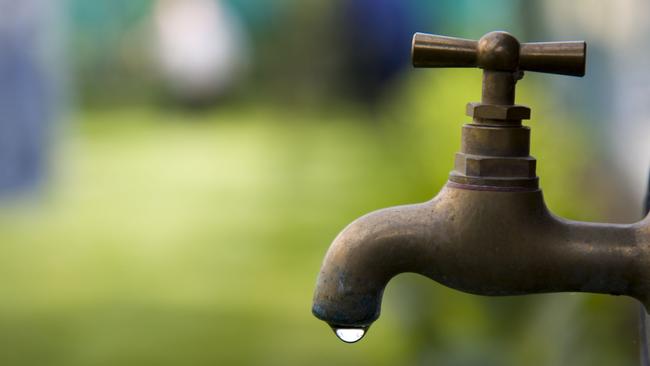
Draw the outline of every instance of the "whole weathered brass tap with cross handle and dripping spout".
<instances>
[{"instance_id":1,"label":"whole weathered brass tap with cross handle and dripping spout","mask_svg":"<svg viewBox=\"0 0 650 366\"><path fill-rule=\"evenodd\" d=\"M582 41L416 33L413 65L483 69L481 102L467 105L473 120L432 200L372 212L334 239L313 314L336 329L366 329L379 317L386 284L403 272L477 295L592 292L631 296L650 309L650 219L620 225L553 215L521 123L530 109L514 104L524 71L583 76L585 54Z\"/></svg>"}]
</instances>

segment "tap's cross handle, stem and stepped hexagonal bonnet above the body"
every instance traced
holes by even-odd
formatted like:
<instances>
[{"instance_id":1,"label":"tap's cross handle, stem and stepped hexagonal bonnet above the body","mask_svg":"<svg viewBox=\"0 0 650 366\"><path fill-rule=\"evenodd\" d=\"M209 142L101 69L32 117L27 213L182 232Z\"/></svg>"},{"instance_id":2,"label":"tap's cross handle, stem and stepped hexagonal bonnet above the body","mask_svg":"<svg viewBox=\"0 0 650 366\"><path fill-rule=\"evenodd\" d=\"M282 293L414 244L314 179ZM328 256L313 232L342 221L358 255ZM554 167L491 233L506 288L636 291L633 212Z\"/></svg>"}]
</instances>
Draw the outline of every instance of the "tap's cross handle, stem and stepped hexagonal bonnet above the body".
<instances>
[{"instance_id":1,"label":"tap's cross handle, stem and stepped hexagonal bonnet above the body","mask_svg":"<svg viewBox=\"0 0 650 366\"><path fill-rule=\"evenodd\" d=\"M524 43L506 32L478 41L416 33L416 67L480 67L480 103L469 103L472 123L463 126L461 150L450 181L513 190L536 189L535 159L529 156L530 130L521 121L530 108L515 105L515 86L523 72L582 76L585 42Z\"/></svg>"}]
</instances>

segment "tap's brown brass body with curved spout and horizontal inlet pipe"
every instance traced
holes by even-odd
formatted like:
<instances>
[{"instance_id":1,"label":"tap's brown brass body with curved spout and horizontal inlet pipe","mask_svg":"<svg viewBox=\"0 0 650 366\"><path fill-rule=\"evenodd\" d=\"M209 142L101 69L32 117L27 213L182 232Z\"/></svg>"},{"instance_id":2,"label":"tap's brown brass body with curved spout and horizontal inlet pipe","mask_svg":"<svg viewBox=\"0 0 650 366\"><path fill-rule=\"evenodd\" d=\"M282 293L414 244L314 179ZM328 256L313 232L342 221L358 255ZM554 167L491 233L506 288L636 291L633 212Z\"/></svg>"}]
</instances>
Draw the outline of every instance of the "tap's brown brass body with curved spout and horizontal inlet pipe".
<instances>
[{"instance_id":1,"label":"tap's brown brass body with curved spout and horizontal inlet pipe","mask_svg":"<svg viewBox=\"0 0 650 366\"><path fill-rule=\"evenodd\" d=\"M388 281L403 272L478 295L593 292L647 307L648 244L646 221L569 221L549 212L539 189L448 182L426 203L379 210L345 228L325 256L312 312L333 327L368 327Z\"/></svg>"}]
</instances>

